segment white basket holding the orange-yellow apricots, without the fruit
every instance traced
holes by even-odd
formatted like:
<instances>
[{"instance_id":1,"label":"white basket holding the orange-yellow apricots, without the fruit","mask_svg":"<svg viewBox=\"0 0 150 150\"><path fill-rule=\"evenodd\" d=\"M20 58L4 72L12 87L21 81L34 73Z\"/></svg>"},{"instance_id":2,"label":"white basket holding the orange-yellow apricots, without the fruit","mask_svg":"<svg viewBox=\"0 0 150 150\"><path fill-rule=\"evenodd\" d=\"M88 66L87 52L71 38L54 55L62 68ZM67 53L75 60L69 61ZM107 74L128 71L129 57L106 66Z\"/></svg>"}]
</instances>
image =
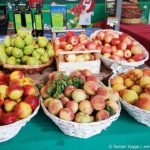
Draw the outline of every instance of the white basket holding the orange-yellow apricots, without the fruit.
<instances>
[{"instance_id":1,"label":"white basket holding the orange-yellow apricots, without the fruit","mask_svg":"<svg viewBox=\"0 0 150 150\"><path fill-rule=\"evenodd\" d=\"M111 87L110 80L114 78L116 75L112 75L109 79L109 86ZM150 111L143 110L134 105L127 103L120 97L120 102L123 108L139 123L142 123L148 127L150 127Z\"/></svg>"}]
</instances>

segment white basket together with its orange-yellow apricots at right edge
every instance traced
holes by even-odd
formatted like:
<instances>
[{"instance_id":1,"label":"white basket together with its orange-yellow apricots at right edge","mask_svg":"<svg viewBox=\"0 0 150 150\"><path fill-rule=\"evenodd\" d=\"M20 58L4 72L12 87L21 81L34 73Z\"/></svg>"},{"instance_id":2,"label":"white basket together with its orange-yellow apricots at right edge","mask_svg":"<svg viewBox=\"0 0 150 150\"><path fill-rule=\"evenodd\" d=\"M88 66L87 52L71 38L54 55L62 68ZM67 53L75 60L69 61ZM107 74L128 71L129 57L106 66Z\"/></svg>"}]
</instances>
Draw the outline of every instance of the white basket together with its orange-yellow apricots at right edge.
<instances>
[{"instance_id":1,"label":"white basket together with its orange-yellow apricots at right edge","mask_svg":"<svg viewBox=\"0 0 150 150\"><path fill-rule=\"evenodd\" d=\"M110 85L119 92L124 109L138 122L150 127L150 68L113 75Z\"/></svg>"}]
</instances>

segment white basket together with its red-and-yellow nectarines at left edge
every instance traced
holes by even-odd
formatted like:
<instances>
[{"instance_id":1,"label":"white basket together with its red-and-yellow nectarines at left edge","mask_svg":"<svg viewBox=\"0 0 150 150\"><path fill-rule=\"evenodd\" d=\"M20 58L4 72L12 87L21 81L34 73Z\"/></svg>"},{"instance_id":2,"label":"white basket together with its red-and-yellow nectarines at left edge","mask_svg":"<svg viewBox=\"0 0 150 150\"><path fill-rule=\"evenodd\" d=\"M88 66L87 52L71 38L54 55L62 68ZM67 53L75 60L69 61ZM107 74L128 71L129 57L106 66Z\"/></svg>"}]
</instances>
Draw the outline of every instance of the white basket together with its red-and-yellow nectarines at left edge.
<instances>
[{"instance_id":1,"label":"white basket together with its red-and-yellow nectarines at left edge","mask_svg":"<svg viewBox=\"0 0 150 150\"><path fill-rule=\"evenodd\" d=\"M38 112L38 91L21 71L0 71L0 142L13 138Z\"/></svg>"}]
</instances>

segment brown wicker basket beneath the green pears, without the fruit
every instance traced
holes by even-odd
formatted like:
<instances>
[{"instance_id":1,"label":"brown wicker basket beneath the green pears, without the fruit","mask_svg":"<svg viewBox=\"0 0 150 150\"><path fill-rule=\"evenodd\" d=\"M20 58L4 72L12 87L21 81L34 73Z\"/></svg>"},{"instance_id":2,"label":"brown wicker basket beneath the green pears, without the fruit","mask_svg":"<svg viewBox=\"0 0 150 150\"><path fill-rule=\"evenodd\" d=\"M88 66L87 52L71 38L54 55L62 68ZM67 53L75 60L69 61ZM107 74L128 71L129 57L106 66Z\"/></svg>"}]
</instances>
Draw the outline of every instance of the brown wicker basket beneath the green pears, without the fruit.
<instances>
[{"instance_id":1,"label":"brown wicker basket beneath the green pears, without the fruit","mask_svg":"<svg viewBox=\"0 0 150 150\"><path fill-rule=\"evenodd\" d=\"M54 60L54 57L49 60L49 62L42 64L42 65L9 65L9 64L2 64L4 69L8 69L11 71L19 70L23 73L28 74L35 74L42 72L46 67L50 66Z\"/></svg>"}]
</instances>

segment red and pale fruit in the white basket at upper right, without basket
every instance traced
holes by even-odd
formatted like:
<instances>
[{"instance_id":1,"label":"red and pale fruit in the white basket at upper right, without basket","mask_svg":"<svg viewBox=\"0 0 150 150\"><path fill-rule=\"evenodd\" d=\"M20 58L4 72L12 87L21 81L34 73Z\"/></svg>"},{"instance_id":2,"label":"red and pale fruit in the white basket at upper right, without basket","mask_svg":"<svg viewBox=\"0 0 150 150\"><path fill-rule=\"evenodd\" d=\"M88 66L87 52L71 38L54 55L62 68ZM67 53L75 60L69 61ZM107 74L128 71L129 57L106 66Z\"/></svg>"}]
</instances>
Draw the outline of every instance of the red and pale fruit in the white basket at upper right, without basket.
<instances>
[{"instance_id":1,"label":"red and pale fruit in the white basket at upper right, without basket","mask_svg":"<svg viewBox=\"0 0 150 150\"><path fill-rule=\"evenodd\" d=\"M105 58L128 62L137 62L145 58L143 47L128 34L119 34L113 30L102 30L97 33L93 40L99 41L97 47Z\"/></svg>"}]
</instances>

